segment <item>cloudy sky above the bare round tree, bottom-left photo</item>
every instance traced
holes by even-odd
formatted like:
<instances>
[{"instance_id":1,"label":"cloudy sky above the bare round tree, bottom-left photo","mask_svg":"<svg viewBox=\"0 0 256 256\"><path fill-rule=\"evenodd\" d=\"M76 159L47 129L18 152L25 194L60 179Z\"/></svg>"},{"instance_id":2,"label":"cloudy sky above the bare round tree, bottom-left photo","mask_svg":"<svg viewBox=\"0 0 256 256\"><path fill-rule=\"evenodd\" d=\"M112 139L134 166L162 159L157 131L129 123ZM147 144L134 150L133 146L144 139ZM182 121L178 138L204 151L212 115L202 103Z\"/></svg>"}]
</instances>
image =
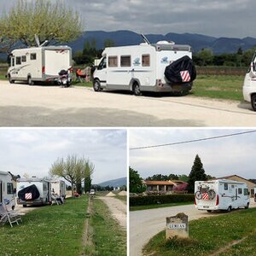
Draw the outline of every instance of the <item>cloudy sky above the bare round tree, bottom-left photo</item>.
<instances>
[{"instance_id":1,"label":"cloudy sky above the bare round tree, bottom-left photo","mask_svg":"<svg viewBox=\"0 0 256 256\"><path fill-rule=\"evenodd\" d=\"M0 171L46 177L51 164L68 154L94 163L92 183L126 177L125 130L0 129Z\"/></svg>"}]
</instances>

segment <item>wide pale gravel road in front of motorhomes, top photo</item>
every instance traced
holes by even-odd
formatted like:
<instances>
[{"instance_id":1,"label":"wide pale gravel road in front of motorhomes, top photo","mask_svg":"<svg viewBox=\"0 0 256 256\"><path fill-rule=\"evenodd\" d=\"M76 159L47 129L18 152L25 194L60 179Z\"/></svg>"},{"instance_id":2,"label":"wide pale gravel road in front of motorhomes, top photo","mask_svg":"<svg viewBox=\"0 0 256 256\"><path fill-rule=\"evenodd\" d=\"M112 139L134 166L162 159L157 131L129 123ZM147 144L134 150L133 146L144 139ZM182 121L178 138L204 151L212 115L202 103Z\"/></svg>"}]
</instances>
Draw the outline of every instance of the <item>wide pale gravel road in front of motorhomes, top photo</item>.
<instances>
[{"instance_id":1,"label":"wide pale gravel road in front of motorhomes, top photo","mask_svg":"<svg viewBox=\"0 0 256 256\"><path fill-rule=\"evenodd\" d=\"M0 126L256 126L247 103L0 81Z\"/></svg>"}]
</instances>

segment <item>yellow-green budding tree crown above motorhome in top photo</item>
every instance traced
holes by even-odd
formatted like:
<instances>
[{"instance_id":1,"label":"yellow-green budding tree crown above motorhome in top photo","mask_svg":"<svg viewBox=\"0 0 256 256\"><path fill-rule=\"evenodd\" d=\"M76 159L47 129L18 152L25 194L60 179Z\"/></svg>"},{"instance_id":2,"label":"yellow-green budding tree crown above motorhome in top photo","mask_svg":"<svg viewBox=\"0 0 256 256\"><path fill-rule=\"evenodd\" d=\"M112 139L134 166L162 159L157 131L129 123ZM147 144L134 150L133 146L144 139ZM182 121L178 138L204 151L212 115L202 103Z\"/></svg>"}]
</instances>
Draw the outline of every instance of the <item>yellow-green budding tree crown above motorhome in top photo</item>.
<instances>
[{"instance_id":1,"label":"yellow-green budding tree crown above motorhome in top photo","mask_svg":"<svg viewBox=\"0 0 256 256\"><path fill-rule=\"evenodd\" d=\"M79 13L61 2L49 0L17 0L9 13L0 18L2 38L35 46L39 43L64 43L79 37L82 25Z\"/></svg>"}]
</instances>

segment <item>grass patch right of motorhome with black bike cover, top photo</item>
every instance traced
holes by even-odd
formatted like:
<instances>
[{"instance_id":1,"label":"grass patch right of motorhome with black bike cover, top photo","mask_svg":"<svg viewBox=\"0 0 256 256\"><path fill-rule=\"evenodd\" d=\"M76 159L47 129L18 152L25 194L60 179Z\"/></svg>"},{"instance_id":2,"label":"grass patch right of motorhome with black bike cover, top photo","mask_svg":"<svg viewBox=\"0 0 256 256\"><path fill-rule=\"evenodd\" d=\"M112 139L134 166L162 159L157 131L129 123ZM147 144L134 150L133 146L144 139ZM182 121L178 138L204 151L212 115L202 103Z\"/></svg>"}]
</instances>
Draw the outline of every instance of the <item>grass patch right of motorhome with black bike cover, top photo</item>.
<instances>
[{"instance_id":1,"label":"grass patch right of motorhome with black bike cover, top photo","mask_svg":"<svg viewBox=\"0 0 256 256\"><path fill-rule=\"evenodd\" d=\"M244 76L199 75L194 82L191 94L218 99L242 101Z\"/></svg>"}]
</instances>

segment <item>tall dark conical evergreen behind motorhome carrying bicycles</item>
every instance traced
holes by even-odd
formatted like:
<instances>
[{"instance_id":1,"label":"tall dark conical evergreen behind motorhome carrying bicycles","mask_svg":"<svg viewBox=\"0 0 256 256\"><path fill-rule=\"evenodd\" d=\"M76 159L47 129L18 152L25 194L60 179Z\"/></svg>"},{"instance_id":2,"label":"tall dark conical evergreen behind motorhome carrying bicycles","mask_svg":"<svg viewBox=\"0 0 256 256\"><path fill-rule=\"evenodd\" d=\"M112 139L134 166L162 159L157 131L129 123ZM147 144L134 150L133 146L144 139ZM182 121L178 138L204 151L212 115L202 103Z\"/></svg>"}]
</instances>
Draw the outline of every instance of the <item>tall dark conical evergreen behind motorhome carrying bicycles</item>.
<instances>
[{"instance_id":1,"label":"tall dark conical evergreen behind motorhome carrying bicycles","mask_svg":"<svg viewBox=\"0 0 256 256\"><path fill-rule=\"evenodd\" d=\"M201 158L198 154L195 155L194 165L191 168L191 172L189 173L189 193L194 193L195 189L195 181L204 181L207 180L207 175L203 168L203 164L201 162Z\"/></svg>"}]
</instances>

